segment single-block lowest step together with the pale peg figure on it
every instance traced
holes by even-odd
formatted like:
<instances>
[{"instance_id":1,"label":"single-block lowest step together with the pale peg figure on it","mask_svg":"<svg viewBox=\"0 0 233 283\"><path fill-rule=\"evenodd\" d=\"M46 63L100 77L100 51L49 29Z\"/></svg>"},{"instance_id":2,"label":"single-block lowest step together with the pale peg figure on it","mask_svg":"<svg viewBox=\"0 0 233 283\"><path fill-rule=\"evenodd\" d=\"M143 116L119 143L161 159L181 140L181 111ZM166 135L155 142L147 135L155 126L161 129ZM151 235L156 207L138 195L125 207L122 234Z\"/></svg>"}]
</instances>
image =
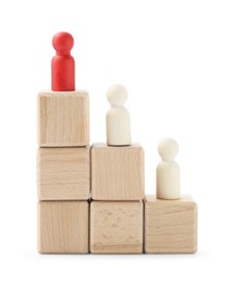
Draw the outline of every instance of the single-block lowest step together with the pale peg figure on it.
<instances>
[{"instance_id":1,"label":"single-block lowest step together with the pale peg figure on it","mask_svg":"<svg viewBox=\"0 0 233 283\"><path fill-rule=\"evenodd\" d=\"M177 143L164 138L158 147L157 196L145 197L145 253L195 253L197 249L197 205L180 194L180 167L174 158Z\"/></svg>"}]
</instances>

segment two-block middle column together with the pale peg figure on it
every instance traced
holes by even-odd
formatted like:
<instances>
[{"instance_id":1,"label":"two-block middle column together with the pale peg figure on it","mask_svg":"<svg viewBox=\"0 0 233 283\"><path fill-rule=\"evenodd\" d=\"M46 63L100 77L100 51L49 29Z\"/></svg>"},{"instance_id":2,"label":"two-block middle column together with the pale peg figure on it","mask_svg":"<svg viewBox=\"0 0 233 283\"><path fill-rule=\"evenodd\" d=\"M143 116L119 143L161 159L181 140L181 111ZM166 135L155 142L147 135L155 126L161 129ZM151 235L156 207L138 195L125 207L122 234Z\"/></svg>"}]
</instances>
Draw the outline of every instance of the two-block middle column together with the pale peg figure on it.
<instances>
[{"instance_id":1,"label":"two-block middle column together with the pale peg figure on it","mask_svg":"<svg viewBox=\"0 0 233 283\"><path fill-rule=\"evenodd\" d=\"M108 90L107 145L91 147L90 251L143 253L144 149L131 144L123 86Z\"/></svg>"}]
</instances>

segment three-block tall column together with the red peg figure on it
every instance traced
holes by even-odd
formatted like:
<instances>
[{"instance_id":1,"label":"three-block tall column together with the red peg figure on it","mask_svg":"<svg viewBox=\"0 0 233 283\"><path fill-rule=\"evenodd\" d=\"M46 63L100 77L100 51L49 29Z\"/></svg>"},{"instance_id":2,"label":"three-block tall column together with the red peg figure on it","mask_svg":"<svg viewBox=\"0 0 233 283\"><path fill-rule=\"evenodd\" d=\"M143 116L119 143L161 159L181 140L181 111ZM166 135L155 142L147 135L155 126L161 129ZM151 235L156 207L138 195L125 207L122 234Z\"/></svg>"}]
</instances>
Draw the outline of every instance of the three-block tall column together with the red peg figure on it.
<instances>
[{"instance_id":1,"label":"three-block tall column together with the red peg figure on it","mask_svg":"<svg viewBox=\"0 0 233 283\"><path fill-rule=\"evenodd\" d=\"M38 95L38 251L88 253L88 94L75 91L73 37L52 42L52 90Z\"/></svg>"}]
</instances>

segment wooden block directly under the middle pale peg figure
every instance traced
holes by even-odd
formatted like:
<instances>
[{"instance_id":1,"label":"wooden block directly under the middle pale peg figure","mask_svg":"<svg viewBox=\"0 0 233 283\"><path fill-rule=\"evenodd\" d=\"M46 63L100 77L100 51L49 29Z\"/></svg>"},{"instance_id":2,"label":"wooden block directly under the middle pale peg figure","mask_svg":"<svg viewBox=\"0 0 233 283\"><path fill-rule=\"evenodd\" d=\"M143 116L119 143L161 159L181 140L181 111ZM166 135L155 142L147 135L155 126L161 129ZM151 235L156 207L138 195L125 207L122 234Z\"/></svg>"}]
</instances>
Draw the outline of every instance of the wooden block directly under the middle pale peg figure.
<instances>
[{"instance_id":1,"label":"wooden block directly under the middle pale peg figure","mask_svg":"<svg viewBox=\"0 0 233 283\"><path fill-rule=\"evenodd\" d=\"M142 200L144 149L139 145L93 145L91 197L96 200Z\"/></svg>"}]
</instances>

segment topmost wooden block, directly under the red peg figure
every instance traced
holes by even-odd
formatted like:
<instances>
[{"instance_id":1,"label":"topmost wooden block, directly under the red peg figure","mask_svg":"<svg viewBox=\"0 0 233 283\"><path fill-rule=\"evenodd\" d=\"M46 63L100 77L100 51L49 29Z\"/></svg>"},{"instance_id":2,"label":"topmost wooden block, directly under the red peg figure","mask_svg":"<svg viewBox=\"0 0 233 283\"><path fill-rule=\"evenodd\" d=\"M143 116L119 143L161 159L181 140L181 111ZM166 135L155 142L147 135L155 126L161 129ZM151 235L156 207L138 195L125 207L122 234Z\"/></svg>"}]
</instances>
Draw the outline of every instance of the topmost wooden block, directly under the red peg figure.
<instances>
[{"instance_id":1,"label":"topmost wooden block, directly under the red peg figure","mask_svg":"<svg viewBox=\"0 0 233 283\"><path fill-rule=\"evenodd\" d=\"M89 145L89 98L85 91L44 91L38 95L40 147Z\"/></svg>"}]
</instances>

